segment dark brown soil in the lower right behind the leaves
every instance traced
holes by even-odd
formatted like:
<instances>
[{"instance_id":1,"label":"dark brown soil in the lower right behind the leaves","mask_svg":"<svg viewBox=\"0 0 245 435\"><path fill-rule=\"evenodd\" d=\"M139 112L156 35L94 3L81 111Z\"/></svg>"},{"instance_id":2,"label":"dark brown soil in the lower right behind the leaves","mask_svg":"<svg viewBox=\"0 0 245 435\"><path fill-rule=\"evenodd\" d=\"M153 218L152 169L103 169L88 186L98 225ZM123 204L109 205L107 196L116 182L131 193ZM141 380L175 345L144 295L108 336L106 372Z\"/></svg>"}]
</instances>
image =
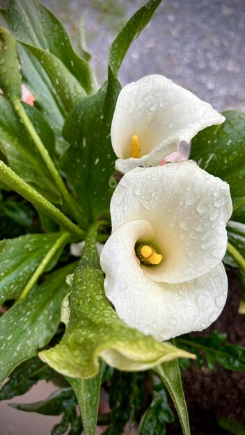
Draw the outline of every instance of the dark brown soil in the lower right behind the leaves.
<instances>
[{"instance_id":1,"label":"dark brown soil in the lower right behind the leaves","mask_svg":"<svg viewBox=\"0 0 245 435\"><path fill-rule=\"evenodd\" d=\"M214 329L228 334L229 343L245 346L245 315L237 313L240 288L237 271L228 270L229 292L225 309L212 327L195 334L209 335ZM216 367L198 370L195 363L182 372L184 395L187 400L191 435L228 435L219 427L219 418L231 418L245 425L245 372L232 372ZM178 418L168 425L167 433L180 435Z\"/></svg>"}]
</instances>

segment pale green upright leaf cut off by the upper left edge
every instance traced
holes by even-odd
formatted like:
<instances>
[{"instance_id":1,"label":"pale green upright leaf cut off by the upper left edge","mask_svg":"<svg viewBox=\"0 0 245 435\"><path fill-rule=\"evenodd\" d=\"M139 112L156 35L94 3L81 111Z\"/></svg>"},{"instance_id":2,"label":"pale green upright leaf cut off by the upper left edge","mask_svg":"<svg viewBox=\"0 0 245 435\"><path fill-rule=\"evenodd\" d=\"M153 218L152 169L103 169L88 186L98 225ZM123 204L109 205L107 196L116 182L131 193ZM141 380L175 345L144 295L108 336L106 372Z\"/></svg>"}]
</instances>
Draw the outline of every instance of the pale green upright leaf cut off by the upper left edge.
<instances>
[{"instance_id":1,"label":"pale green upright leaf cut off by the upper left edge","mask_svg":"<svg viewBox=\"0 0 245 435\"><path fill-rule=\"evenodd\" d=\"M22 95L16 42L3 27L0 27L0 88L11 97L20 98Z\"/></svg>"}]
</instances>

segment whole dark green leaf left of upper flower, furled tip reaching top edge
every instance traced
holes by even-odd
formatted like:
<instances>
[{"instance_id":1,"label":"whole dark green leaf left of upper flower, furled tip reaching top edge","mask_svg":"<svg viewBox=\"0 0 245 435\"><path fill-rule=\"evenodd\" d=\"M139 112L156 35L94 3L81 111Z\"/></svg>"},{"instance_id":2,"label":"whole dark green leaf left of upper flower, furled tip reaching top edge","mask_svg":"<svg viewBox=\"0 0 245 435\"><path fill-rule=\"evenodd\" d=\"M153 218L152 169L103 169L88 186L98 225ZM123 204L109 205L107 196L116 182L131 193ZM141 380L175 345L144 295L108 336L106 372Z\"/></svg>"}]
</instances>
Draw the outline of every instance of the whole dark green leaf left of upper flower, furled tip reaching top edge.
<instances>
[{"instance_id":1,"label":"whole dark green leaf left of upper flower, furled tip reaching top edge","mask_svg":"<svg viewBox=\"0 0 245 435\"><path fill-rule=\"evenodd\" d=\"M118 69L130 44L148 24L159 3L161 0L148 1L129 19L109 51L108 83L95 96L83 100L65 121L63 135L71 147L61 167L91 220L109 209L116 187L113 179L116 156L111 149L110 133L120 91Z\"/></svg>"}]
</instances>

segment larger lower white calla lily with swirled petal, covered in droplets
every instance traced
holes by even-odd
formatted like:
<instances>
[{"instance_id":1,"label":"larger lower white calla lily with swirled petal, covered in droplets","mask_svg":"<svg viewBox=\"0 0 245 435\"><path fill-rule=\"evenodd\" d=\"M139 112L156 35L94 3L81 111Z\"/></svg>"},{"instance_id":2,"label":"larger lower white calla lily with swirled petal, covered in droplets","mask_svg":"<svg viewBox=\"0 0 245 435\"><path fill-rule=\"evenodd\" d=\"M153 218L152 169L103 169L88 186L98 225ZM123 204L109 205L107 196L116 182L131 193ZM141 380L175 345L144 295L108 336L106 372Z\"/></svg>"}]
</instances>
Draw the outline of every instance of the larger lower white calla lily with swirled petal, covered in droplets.
<instances>
[{"instance_id":1,"label":"larger lower white calla lily with swirled petal, covered in droplets","mask_svg":"<svg viewBox=\"0 0 245 435\"><path fill-rule=\"evenodd\" d=\"M167 340L219 316L231 213L228 184L192 161L138 167L122 177L100 261L106 296L127 325ZM152 246L159 264L144 264L138 245Z\"/></svg>"}]
</instances>

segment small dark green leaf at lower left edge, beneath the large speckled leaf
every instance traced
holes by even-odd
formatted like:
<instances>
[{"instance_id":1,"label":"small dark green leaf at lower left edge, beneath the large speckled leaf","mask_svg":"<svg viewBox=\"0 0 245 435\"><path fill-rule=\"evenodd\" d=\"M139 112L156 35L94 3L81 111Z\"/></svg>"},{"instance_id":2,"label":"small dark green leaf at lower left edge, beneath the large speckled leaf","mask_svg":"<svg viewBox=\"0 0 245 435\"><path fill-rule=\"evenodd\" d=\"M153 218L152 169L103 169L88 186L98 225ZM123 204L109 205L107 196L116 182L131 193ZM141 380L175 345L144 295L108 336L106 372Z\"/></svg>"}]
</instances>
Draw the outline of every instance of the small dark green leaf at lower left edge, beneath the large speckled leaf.
<instances>
[{"instance_id":1,"label":"small dark green leaf at lower left edge, beneath the large speckled leaf","mask_svg":"<svg viewBox=\"0 0 245 435\"><path fill-rule=\"evenodd\" d=\"M29 391L40 379L49 381L54 376L54 371L42 363L38 358L24 361L10 375L10 379L1 387L0 400L9 400L17 395Z\"/></svg>"}]
</instances>

